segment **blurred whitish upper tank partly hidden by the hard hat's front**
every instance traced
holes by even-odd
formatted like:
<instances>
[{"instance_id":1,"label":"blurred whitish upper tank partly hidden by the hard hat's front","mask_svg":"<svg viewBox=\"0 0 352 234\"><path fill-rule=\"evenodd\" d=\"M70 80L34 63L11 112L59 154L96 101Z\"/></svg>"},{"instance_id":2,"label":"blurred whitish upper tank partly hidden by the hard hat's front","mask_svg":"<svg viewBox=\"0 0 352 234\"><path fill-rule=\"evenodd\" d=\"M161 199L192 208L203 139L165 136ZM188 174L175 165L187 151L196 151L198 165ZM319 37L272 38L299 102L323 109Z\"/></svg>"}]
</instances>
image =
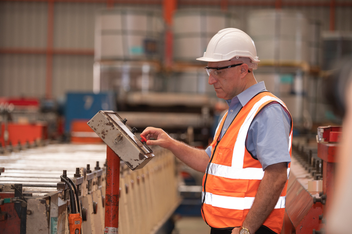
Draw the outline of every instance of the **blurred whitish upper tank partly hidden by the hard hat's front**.
<instances>
[{"instance_id":1,"label":"blurred whitish upper tank partly hidden by the hard hat's front","mask_svg":"<svg viewBox=\"0 0 352 234\"><path fill-rule=\"evenodd\" d=\"M181 9L174 14L174 50L176 62L199 63L208 43L217 32L238 27L233 14L216 9Z\"/></svg>"}]
</instances>

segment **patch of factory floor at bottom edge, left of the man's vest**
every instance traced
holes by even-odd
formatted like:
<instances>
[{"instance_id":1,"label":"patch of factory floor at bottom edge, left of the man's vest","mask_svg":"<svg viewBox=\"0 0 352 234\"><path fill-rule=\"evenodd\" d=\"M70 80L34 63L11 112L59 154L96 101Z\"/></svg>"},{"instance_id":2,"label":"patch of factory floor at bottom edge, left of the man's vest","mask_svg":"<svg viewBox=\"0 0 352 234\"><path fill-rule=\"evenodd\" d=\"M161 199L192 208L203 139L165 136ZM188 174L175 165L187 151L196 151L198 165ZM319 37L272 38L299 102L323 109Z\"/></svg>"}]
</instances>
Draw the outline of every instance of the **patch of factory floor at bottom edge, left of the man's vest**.
<instances>
[{"instance_id":1,"label":"patch of factory floor at bottom edge, left of the man's vest","mask_svg":"<svg viewBox=\"0 0 352 234\"><path fill-rule=\"evenodd\" d=\"M210 227L202 217L180 217L172 234L210 234Z\"/></svg>"}]
</instances>

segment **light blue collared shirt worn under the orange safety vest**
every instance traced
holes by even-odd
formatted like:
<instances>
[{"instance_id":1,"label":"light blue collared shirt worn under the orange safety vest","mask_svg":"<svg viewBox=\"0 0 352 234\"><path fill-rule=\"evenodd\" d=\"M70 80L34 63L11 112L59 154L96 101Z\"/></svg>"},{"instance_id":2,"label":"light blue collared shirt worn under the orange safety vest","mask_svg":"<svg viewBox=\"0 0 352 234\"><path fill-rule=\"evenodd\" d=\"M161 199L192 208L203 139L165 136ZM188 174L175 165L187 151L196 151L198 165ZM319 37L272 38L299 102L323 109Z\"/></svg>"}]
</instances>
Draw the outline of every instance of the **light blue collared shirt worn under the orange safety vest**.
<instances>
[{"instance_id":1,"label":"light blue collared shirt worn under the orange safety vest","mask_svg":"<svg viewBox=\"0 0 352 234\"><path fill-rule=\"evenodd\" d=\"M226 133L241 108L262 91L266 91L264 82L254 84L233 99L226 100L229 110L220 138ZM291 162L288 151L290 131L291 118L286 109L277 102L265 106L253 119L247 134L246 148L259 160L263 170L272 164ZM211 146L206 152L211 157Z\"/></svg>"}]
</instances>

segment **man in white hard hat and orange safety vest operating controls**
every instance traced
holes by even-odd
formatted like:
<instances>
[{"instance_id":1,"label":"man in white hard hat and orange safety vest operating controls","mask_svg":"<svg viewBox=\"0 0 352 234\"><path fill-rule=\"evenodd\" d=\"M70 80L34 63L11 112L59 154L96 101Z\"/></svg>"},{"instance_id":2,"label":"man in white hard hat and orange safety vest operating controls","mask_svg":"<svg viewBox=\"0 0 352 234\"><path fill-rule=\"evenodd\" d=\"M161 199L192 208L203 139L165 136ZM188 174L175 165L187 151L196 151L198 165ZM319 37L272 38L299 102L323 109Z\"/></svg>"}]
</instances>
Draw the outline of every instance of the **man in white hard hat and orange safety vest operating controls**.
<instances>
[{"instance_id":1,"label":"man in white hard hat and orange safety vest operating controls","mask_svg":"<svg viewBox=\"0 0 352 234\"><path fill-rule=\"evenodd\" d=\"M252 39L238 29L213 36L204 56L208 83L229 111L206 150L146 128L148 145L171 150L195 170L205 172L202 216L211 234L281 233L291 162L292 118L284 103L257 83L259 62ZM154 137L156 140L150 140Z\"/></svg>"}]
</instances>

